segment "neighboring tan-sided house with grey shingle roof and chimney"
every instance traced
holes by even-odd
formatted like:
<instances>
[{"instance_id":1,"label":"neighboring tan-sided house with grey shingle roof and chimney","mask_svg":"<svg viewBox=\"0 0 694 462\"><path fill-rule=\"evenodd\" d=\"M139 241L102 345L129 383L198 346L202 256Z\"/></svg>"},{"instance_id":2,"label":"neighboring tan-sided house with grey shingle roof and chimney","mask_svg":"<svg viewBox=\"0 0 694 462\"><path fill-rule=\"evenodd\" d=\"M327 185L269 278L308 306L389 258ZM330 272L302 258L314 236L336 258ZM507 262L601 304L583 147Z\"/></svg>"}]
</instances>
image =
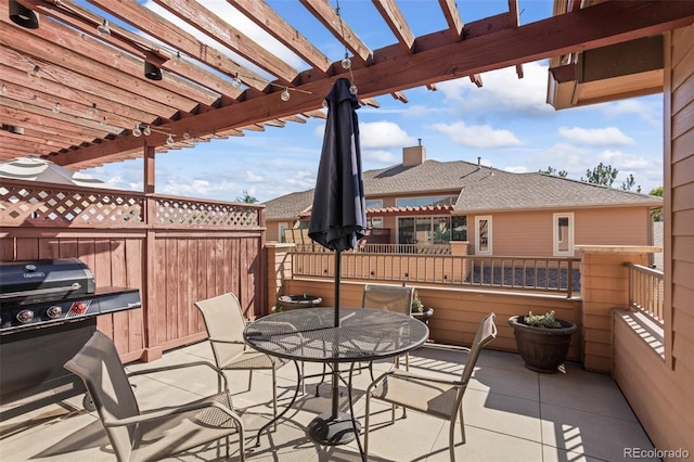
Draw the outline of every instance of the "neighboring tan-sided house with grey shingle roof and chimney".
<instances>
[{"instance_id":1,"label":"neighboring tan-sided house with grey shingle roof and chimney","mask_svg":"<svg viewBox=\"0 0 694 462\"><path fill-rule=\"evenodd\" d=\"M653 245L660 197L544 174L512 174L465 161L426 158L364 171L368 242L466 243L489 256L576 256L577 245ZM267 202L269 241L306 239L313 190ZM377 232L375 232L377 230Z\"/></svg>"}]
</instances>

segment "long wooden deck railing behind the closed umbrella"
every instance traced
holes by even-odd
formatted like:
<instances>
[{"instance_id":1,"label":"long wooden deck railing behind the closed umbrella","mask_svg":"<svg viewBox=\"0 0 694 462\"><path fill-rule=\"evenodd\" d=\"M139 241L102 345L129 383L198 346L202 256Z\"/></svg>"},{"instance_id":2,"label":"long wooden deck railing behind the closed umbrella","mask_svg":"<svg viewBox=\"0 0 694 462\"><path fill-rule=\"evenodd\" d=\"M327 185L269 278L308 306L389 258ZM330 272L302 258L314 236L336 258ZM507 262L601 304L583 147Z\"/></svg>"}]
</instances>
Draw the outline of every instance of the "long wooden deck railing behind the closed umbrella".
<instances>
[{"instance_id":1,"label":"long wooden deck railing behind the closed umbrella","mask_svg":"<svg viewBox=\"0 0 694 462\"><path fill-rule=\"evenodd\" d=\"M558 292L571 298L580 292L577 261L580 258L345 252L340 278ZM292 265L294 275L334 278L334 254L295 252Z\"/></svg>"}]
</instances>

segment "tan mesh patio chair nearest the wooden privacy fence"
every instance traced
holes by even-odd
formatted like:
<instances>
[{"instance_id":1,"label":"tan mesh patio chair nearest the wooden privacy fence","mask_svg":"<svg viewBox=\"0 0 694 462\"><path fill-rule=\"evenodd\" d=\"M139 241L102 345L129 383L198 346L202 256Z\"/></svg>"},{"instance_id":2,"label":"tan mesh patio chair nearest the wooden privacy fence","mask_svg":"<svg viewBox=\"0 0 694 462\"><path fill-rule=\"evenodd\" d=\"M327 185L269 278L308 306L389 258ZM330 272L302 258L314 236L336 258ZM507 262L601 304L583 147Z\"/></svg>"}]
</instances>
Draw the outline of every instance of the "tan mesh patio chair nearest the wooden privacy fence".
<instances>
[{"instance_id":1,"label":"tan mesh patio chair nearest the wooden privacy fence","mask_svg":"<svg viewBox=\"0 0 694 462\"><path fill-rule=\"evenodd\" d=\"M239 298L232 293L222 294L206 300L195 301L205 321L209 343L217 367L224 371L248 371L248 389L253 383L253 371L272 371L272 415L278 427L277 370L287 361L273 358L249 348L243 339L246 321L243 318Z\"/></svg>"}]
</instances>

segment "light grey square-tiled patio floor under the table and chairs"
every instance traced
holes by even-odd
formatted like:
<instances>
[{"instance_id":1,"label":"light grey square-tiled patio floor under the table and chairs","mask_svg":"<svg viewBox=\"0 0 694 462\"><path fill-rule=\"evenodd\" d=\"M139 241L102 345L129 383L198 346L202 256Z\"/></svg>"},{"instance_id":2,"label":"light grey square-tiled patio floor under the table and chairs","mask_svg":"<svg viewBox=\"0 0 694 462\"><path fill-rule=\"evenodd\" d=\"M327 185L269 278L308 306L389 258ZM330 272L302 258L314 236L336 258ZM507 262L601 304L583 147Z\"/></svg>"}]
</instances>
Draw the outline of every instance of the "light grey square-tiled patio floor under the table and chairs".
<instances>
[{"instance_id":1,"label":"light grey square-tiled patio floor under the table and chairs","mask_svg":"<svg viewBox=\"0 0 694 462\"><path fill-rule=\"evenodd\" d=\"M206 342L169 351L147 364L210 359ZM410 355L411 370L432 374L460 374L464 354L423 347ZM389 363L376 363L376 372ZM307 374L320 365L307 364ZM142 409L183 402L214 393L216 378L204 369L137 376L136 395ZM305 427L320 412L330 410L330 385L307 394L280 421L277 432L265 433L255 447L256 431L272 413L270 375L254 372L252 390L247 373L228 373L236 410L243 412L248 461L359 461L356 441L344 446L320 446ZM615 382L604 374L586 372L567 363L564 373L538 374L524 368L514 354L486 349L477 362L464 398L467 444L457 439L459 461L619 461L625 448L653 449L641 425ZM296 383L292 363L279 371L279 405L288 403ZM363 422L367 372L355 376L355 411ZM342 400L347 406L346 395ZM398 416L400 413L397 414ZM389 408L375 406L372 416L372 461L448 461L448 422L408 412L406 420L389 424ZM460 432L457 433L460 438ZM363 440L363 438L362 438ZM231 460L239 460L237 442L231 441ZM216 445L185 453L178 460L221 461ZM175 460L177 460L175 459ZM95 413L81 407L81 396L50 405L0 423L0 460L13 461L113 461L115 455Z\"/></svg>"}]
</instances>

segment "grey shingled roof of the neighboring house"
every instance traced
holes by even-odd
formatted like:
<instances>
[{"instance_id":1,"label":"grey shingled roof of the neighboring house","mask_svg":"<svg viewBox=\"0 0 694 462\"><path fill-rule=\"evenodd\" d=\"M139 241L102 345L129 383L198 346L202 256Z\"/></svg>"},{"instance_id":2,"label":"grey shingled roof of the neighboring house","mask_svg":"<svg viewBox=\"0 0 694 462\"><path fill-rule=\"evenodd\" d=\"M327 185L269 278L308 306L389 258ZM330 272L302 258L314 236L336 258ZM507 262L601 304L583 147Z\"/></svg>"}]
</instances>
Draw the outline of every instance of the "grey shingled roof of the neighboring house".
<instances>
[{"instance_id":1,"label":"grey shingled roof of the neighboring house","mask_svg":"<svg viewBox=\"0 0 694 462\"><path fill-rule=\"evenodd\" d=\"M663 205L660 197L647 194L544 174L512 174L464 161L424 161L414 166L399 164L364 171L363 177L367 198L413 193L459 194L457 211ZM267 202L266 217L297 219L307 215L312 202L313 190L291 193Z\"/></svg>"}]
</instances>

